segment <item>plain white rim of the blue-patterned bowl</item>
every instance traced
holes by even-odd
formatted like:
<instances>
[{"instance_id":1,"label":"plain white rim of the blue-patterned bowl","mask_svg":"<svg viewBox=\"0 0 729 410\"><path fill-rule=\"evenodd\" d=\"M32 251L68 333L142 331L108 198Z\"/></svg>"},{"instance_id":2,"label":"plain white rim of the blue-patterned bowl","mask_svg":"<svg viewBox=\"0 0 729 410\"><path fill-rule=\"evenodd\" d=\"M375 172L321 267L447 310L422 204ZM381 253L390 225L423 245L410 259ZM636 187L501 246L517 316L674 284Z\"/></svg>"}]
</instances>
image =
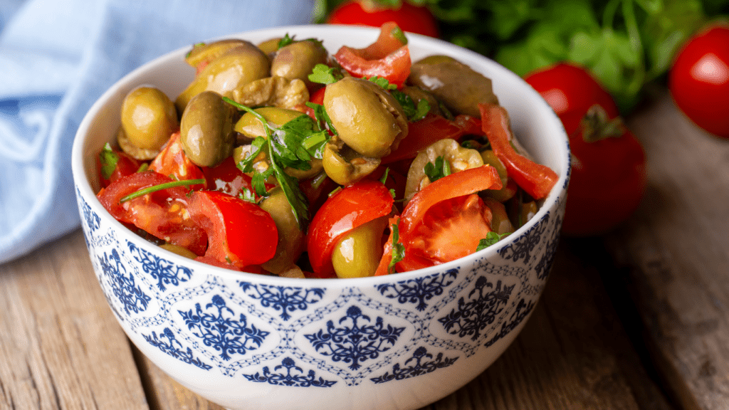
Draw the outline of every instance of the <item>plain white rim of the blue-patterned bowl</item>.
<instances>
[{"instance_id":1,"label":"plain white rim of the blue-patterned bowl","mask_svg":"<svg viewBox=\"0 0 729 410\"><path fill-rule=\"evenodd\" d=\"M373 39L376 39L377 35L380 32L380 28L376 27L366 27L366 26L346 26L346 25L299 25L299 26L278 26L273 28L262 28L252 31L241 31L238 33L233 34L227 34L225 36L219 36L212 39L206 39L203 40L204 42L212 42L216 41L217 39L230 39L230 38L239 38L239 39L251 39L253 37L259 37L263 38L268 36L269 38L273 38L276 36L282 36L287 33L292 33L295 36L299 35L301 33L305 32L311 32L311 34L315 34L316 38L322 38L322 37L331 37L336 35L343 35L346 34L346 36L350 37L351 39L354 39L354 42L356 43L358 39L364 40L364 43L362 45L356 45L353 44L352 47L364 47L364 45L370 44ZM307 35L307 34L304 34ZM459 258L456 260L453 260L451 262L442 263L440 265L431 266L429 268L422 268L415 271L407 271L402 273L397 273L394 275L384 275L384 276L367 276L367 277L361 277L361 278L328 278L328 279L301 279L301 278L289 278L289 277L281 277L281 276L275 276L275 275L262 275L262 274L253 274L250 272L240 272L240 271L233 271L226 268L220 268L218 266L212 266L208 265L207 263L202 263L197 260L192 260L189 258L184 258L180 255L175 254L174 252L170 252L168 250L164 250L160 247L157 247L155 244L152 244L151 242L141 238L141 236L137 236L136 233L133 233L133 231L130 231L128 228L126 228L122 223L117 221L114 217L109 214L109 212L106 212L106 209L104 209L103 206L101 206L101 203L98 201L98 198L96 198L96 194L93 192L92 187L89 182L89 176L86 174L86 167L84 165L84 153L85 153L85 144L90 136L90 128L92 127L95 117L98 115L101 115L101 113L104 111L104 108L106 107L106 104L109 102L109 100L118 93L118 90L121 88L129 87L130 85L141 85L144 82L141 82L140 80L136 80L137 77L140 77L142 74L146 73L147 71L152 71L155 69L155 67L160 65L165 65L168 63L171 63L172 61L179 61L179 59L184 58L184 55L190 51L191 46L186 47L180 47L176 50L172 50L169 53L165 53L163 55L160 55L157 58L152 59L151 61L148 61L147 63L142 64L141 66L137 67L136 69L133 69L128 74L125 74L123 77L121 77L119 80L114 82L113 85L111 85L107 90L102 93L102 95L93 103L93 105L90 107L90 109L87 111L85 116L82 119L82 122L79 124L79 128L77 129L76 134L74 135L74 141L71 148L71 171L73 174L74 179L74 185L76 185L79 196L84 198L85 201L89 202L93 201L89 206L92 206L92 209L95 211L103 211L101 212L100 217L104 218L108 223L111 223L111 226L113 227L114 231L121 231L122 235L125 235L128 237L130 241L135 243L136 245L142 247L144 250L147 250L147 252L162 252L164 257L171 262L176 263L177 265L182 266L189 266L194 271L200 272L204 271L207 274L215 274L217 276L222 276L225 279L238 279L238 280L246 280L246 281L252 281L252 282L271 282L276 285L294 285L294 286L302 286L305 282L302 282L303 280L313 281L311 282L312 285L316 283L316 286L321 287L359 287L359 286L371 286L371 285L378 285L381 283L386 282L400 282L400 281L407 281L408 279L416 279L420 277L430 276L432 274L437 274L439 272L445 272L449 271L453 268L460 268L462 265L471 265L472 263L476 262L477 260L484 260L492 258L496 255L499 249L501 249L504 246L507 246L509 244L512 244L514 241L517 241L518 239L523 236L524 233L530 231L532 228L534 228L537 223L539 223L542 220L542 217L547 214L547 212L550 212L550 209L556 210L556 205L562 198L564 201L564 196L566 196L566 186L569 182L569 166L570 166L570 152L569 152L569 140L567 139L566 133L564 131L564 126L561 123L561 120L559 120L558 116L554 113L553 109L547 104L547 102L542 98L542 96L537 93L534 88L531 88L531 86L526 83L521 77L518 77L517 74L513 73L512 71L509 71L504 66L500 65L499 63L496 63L495 61L491 60L490 58L487 58L484 55L480 55L478 53L475 53L472 50L468 50L464 47L459 47L457 45L453 45L450 42L445 42L441 39L435 39L433 37L424 36L421 34L413 34L413 33L406 33L408 36L408 44L409 45L416 45L416 47L420 48L428 48L436 46L438 48L438 51L447 50L453 55L467 55L471 59L478 60L479 63L483 63L483 65L488 66L488 69L499 71L500 75L512 77L512 80L515 80L516 82L520 83L523 86L523 90L525 93L531 94L529 96L530 100L536 100L534 101L535 107L539 109L540 112L542 112L542 116L547 119L547 123L545 124L545 128L552 128L553 133L556 133L556 135L553 137L555 139L554 145L558 148L557 153L560 155L561 158L558 158L559 161L563 161L563 165L561 166L561 169L555 170L558 174L558 181L556 182L555 186L551 190L551 192L542 200L542 206L540 206L539 210L537 211L537 214L534 215L534 217L531 217L531 220L529 220L525 225L522 225L521 228L518 228L515 230L511 235L510 239L504 239L503 241L499 241L498 244L492 245L490 247L487 247L483 250L474 252L470 255L465 256L464 258ZM308 38L308 37L307 37ZM259 41L259 40L254 40ZM262 41L262 40L260 40ZM324 38L324 42L326 42L327 39ZM370 43L366 43L369 41ZM349 44L349 43L348 43ZM325 44L326 47L326 44ZM327 50L330 51L330 53L333 54L332 50L327 48ZM335 51L334 51L335 52ZM524 87L526 85L526 87ZM551 113L551 115L549 115ZM548 133L548 134L553 134ZM562 139L564 144L558 144L557 139ZM560 147L561 145L561 147ZM80 204L79 204L79 210L80 210ZM82 212L82 211L81 211ZM82 218L83 219L83 218ZM154 249L154 250L153 250ZM166 252L166 253L165 253ZM397 279L396 279L397 278ZM336 285L335 285L336 284Z\"/></svg>"}]
</instances>

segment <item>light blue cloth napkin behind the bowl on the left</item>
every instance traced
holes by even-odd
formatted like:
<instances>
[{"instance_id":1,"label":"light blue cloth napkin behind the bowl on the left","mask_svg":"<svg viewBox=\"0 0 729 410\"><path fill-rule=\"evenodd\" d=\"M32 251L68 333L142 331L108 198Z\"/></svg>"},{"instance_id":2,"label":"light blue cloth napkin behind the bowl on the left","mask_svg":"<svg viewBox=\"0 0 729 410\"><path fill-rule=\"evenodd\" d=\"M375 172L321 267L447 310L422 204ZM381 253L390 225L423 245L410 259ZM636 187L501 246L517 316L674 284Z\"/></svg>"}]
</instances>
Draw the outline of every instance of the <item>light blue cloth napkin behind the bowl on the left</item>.
<instances>
[{"instance_id":1,"label":"light blue cloth napkin behind the bowl on the left","mask_svg":"<svg viewBox=\"0 0 729 410\"><path fill-rule=\"evenodd\" d=\"M0 263L79 226L71 144L114 82L179 47L312 18L313 0L0 0Z\"/></svg>"}]
</instances>

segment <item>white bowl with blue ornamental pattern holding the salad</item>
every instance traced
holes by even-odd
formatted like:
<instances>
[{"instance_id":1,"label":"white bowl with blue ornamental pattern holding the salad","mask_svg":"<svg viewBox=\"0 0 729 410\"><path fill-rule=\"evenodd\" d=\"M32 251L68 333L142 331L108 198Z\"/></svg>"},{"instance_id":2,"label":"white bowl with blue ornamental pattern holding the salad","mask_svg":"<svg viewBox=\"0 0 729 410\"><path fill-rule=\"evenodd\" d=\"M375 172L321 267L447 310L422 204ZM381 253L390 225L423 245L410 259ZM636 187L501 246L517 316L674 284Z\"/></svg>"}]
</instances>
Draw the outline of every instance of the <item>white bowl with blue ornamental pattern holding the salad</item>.
<instances>
[{"instance_id":1,"label":"white bowl with blue ornamental pattern holding the salad","mask_svg":"<svg viewBox=\"0 0 729 410\"><path fill-rule=\"evenodd\" d=\"M289 26L227 37L254 44L288 33L335 53L377 28ZM515 233L451 263L357 279L293 279L182 258L125 228L97 200L95 156L114 140L122 98L152 84L174 98L192 80L177 50L114 84L85 116L72 169L95 276L121 327L155 365L227 409L418 409L491 365L545 287L569 179L564 128L520 77L482 55L408 34L413 61L451 55L494 82L518 139L557 185Z\"/></svg>"}]
</instances>

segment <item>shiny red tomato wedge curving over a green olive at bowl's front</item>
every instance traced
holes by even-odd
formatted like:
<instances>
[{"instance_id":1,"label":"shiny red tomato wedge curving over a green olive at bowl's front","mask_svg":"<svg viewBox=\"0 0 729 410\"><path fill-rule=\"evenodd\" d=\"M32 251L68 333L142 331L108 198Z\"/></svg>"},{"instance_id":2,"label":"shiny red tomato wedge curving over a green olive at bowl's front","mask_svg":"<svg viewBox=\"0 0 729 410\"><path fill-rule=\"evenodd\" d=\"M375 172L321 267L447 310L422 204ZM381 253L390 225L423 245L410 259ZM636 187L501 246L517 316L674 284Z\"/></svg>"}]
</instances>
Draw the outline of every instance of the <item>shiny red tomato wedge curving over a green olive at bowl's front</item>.
<instances>
[{"instance_id":1,"label":"shiny red tomato wedge curving over a green olive at bowl's front","mask_svg":"<svg viewBox=\"0 0 729 410\"><path fill-rule=\"evenodd\" d=\"M352 229L385 216L394 199L382 182L362 179L327 199L311 219L306 236L309 262L314 274L328 277L334 272L332 252Z\"/></svg>"}]
</instances>

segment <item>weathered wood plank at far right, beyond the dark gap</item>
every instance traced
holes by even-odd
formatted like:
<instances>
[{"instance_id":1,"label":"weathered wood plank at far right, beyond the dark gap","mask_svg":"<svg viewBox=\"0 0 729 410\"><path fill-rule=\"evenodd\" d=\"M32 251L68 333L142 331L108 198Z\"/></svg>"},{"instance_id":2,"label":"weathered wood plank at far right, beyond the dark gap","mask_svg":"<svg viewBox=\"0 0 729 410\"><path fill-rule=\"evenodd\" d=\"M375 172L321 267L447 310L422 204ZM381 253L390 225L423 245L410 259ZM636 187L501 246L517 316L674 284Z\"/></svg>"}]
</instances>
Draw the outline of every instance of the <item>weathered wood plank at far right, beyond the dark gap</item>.
<instances>
[{"instance_id":1,"label":"weathered wood plank at far right, beyond the dark gap","mask_svg":"<svg viewBox=\"0 0 729 410\"><path fill-rule=\"evenodd\" d=\"M729 409L729 140L691 125L668 94L628 125L647 152L647 193L607 244L671 394L684 409Z\"/></svg>"}]
</instances>

